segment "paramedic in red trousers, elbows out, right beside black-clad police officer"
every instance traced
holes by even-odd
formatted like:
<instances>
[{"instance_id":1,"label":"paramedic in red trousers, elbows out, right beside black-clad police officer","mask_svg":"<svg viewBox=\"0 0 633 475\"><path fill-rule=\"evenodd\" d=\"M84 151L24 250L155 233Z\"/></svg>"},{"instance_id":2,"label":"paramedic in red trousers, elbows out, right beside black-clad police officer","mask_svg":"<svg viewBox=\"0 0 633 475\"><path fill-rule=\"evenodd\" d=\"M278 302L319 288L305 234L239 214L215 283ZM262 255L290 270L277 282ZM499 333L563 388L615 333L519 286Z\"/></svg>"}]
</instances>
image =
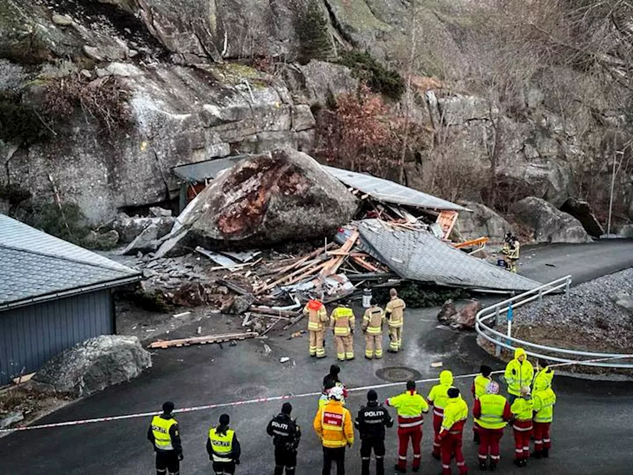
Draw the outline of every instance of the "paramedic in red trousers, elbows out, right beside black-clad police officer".
<instances>
[{"instance_id":1,"label":"paramedic in red trousers, elbows out, right beside black-clad police officer","mask_svg":"<svg viewBox=\"0 0 633 475\"><path fill-rule=\"evenodd\" d=\"M422 441L423 413L429 412L429 404L415 390L415 381L406 382L406 391L385 401L398 411L398 464L396 471L406 472L406 452L409 439L413 445L413 471L420 470L420 441Z\"/></svg>"}]
</instances>

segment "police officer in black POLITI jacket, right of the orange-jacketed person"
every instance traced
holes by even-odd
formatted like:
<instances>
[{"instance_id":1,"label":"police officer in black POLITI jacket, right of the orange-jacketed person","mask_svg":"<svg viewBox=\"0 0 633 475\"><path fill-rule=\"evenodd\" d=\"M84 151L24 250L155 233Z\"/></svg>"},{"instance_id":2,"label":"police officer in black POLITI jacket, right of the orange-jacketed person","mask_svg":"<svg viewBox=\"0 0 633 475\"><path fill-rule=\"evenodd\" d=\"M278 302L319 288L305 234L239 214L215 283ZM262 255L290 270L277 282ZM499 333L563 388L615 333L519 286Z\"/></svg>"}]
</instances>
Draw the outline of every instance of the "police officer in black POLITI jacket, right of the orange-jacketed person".
<instances>
[{"instance_id":1,"label":"police officer in black POLITI jacket, right of the orange-jacketed person","mask_svg":"<svg viewBox=\"0 0 633 475\"><path fill-rule=\"evenodd\" d=\"M354 427L360 432L361 475L369 475L369 462L376 456L376 475L385 473L385 426L392 427L394 420L382 404L376 391L367 393L367 405L360 408Z\"/></svg>"}]
</instances>

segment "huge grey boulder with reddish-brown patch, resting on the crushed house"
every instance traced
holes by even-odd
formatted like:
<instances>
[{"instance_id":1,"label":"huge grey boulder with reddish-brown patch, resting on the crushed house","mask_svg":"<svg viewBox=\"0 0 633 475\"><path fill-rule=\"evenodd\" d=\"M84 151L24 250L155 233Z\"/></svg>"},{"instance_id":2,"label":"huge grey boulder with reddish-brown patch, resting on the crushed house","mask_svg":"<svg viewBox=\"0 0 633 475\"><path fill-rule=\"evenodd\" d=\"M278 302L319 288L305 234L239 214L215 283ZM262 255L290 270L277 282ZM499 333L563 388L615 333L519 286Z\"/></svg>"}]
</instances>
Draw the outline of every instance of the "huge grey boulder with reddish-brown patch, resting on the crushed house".
<instances>
[{"instance_id":1,"label":"huge grey boulder with reddish-brown patch, resting on the crushed house","mask_svg":"<svg viewBox=\"0 0 633 475\"><path fill-rule=\"evenodd\" d=\"M259 246L310 239L349 222L356 200L311 156L294 150L246 158L181 213L158 255L182 246Z\"/></svg>"}]
</instances>

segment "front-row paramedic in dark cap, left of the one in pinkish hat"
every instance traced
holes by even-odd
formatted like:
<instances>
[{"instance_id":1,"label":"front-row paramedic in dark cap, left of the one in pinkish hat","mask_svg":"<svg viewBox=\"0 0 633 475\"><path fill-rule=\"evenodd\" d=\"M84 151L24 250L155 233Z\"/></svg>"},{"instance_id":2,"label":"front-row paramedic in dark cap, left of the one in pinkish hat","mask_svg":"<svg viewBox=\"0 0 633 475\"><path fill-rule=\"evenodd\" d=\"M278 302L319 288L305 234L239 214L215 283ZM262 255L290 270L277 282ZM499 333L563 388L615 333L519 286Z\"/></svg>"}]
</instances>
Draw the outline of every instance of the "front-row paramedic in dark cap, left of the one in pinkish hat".
<instances>
[{"instance_id":1,"label":"front-row paramedic in dark cap, left of the one in pinkish hat","mask_svg":"<svg viewBox=\"0 0 633 475\"><path fill-rule=\"evenodd\" d=\"M468 467L461 453L461 436L464 424L468 419L468 405L460 396L460 390L448 390L448 402L444 407L442 428L439 431L439 441L442 451L442 475L451 475L451 459L455 457L460 475L468 473Z\"/></svg>"}]
</instances>

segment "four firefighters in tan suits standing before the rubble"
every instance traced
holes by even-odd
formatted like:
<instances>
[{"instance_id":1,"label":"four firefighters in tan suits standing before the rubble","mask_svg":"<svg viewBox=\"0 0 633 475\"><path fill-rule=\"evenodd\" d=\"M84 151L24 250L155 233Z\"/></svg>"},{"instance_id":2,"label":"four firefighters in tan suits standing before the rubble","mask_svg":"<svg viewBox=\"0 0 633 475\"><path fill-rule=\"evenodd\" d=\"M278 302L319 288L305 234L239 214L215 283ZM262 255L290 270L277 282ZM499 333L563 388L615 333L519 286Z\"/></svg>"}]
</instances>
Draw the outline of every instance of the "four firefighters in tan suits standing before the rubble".
<instances>
[{"instance_id":1,"label":"four firefighters in tan suits standing before the rubble","mask_svg":"<svg viewBox=\"0 0 633 475\"><path fill-rule=\"evenodd\" d=\"M380 308L375 299L365 310L361 329L365 333L365 358L382 358L382 331L385 324L389 327L389 352L397 353L402 346L402 327L404 322L404 300L398 298L396 289L389 291L391 300ZM310 356L325 358L325 328L334 333L336 357L340 361L354 359L354 325L356 317L348 305L339 305L328 317L325 305L319 300L311 299L303 308L308 317L308 333L310 333Z\"/></svg>"}]
</instances>

